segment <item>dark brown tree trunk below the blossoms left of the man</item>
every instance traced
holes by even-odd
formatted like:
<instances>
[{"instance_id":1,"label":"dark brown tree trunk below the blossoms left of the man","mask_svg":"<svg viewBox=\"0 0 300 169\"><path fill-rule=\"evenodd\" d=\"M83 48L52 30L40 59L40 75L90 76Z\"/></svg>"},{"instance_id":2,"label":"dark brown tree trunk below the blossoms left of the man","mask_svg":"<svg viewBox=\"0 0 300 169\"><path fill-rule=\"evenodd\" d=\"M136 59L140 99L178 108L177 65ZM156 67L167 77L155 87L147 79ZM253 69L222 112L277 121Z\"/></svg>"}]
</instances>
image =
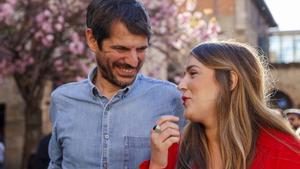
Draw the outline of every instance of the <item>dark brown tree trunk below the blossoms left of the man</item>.
<instances>
[{"instance_id":1,"label":"dark brown tree trunk below the blossoms left of the man","mask_svg":"<svg viewBox=\"0 0 300 169\"><path fill-rule=\"evenodd\" d=\"M29 157L35 152L38 142L42 137L41 101L43 98L45 80L42 78L26 78L25 75L15 75L15 80L26 104L21 169L27 169Z\"/></svg>"}]
</instances>

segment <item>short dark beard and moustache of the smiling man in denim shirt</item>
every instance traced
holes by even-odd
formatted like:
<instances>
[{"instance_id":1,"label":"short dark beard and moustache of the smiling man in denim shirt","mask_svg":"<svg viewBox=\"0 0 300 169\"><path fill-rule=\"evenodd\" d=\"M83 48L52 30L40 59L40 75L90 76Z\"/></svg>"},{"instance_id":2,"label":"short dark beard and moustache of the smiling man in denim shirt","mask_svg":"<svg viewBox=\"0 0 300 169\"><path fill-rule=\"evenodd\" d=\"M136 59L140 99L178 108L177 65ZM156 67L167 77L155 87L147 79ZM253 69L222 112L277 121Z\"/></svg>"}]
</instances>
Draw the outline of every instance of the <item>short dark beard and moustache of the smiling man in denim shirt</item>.
<instances>
[{"instance_id":1,"label":"short dark beard and moustache of the smiling man in denim shirt","mask_svg":"<svg viewBox=\"0 0 300 169\"><path fill-rule=\"evenodd\" d=\"M143 62L139 60L138 66L135 68L130 66L129 64L118 63L118 62L113 63L112 67L111 67L108 60L106 60L106 63L104 63L104 60L101 60L98 58L96 60L97 60L97 65L98 65L98 68L100 70L102 77L104 79L106 79L107 81L109 81L111 84L113 84L117 87L120 87L120 88L125 88L126 86L131 85L135 78L130 82L120 81L113 74L113 68L114 67L118 67L118 68L123 67L123 68L127 68L127 69L130 68L130 69L136 69L136 72L139 72L143 65Z\"/></svg>"}]
</instances>

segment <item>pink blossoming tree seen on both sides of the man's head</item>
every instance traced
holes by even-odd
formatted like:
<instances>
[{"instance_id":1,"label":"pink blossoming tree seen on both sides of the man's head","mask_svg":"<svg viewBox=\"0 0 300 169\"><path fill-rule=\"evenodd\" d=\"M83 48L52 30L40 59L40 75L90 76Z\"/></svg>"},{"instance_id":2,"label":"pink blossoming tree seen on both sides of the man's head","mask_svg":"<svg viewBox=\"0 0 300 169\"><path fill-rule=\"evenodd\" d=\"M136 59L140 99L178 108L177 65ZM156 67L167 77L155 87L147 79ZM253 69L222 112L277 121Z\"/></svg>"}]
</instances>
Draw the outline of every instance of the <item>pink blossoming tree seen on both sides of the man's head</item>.
<instances>
[{"instance_id":1,"label":"pink blossoming tree seen on both sides of the man's head","mask_svg":"<svg viewBox=\"0 0 300 169\"><path fill-rule=\"evenodd\" d=\"M219 31L213 17L195 10L195 0L142 1L151 16L152 46L167 56L166 62L176 62L195 42L215 38ZM40 105L46 81L77 80L94 63L84 42L88 3L0 1L0 85L6 76L14 77L26 103L23 168L41 137Z\"/></svg>"}]
</instances>

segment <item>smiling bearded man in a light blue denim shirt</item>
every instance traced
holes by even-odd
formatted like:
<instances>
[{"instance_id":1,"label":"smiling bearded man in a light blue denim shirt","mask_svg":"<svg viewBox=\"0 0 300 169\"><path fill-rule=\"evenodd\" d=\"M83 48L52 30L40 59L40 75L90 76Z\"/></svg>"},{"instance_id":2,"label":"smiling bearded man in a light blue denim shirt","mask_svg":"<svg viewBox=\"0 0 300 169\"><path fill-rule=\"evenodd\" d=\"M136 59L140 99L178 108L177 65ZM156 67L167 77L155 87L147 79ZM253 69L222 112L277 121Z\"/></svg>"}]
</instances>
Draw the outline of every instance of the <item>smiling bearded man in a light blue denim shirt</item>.
<instances>
[{"instance_id":1,"label":"smiling bearded man in a light blue denim shirt","mask_svg":"<svg viewBox=\"0 0 300 169\"><path fill-rule=\"evenodd\" d=\"M93 0L86 21L97 68L51 95L48 168L138 168L150 158L156 120L167 114L182 119L180 93L169 82L138 74L151 37L139 2Z\"/></svg>"}]
</instances>

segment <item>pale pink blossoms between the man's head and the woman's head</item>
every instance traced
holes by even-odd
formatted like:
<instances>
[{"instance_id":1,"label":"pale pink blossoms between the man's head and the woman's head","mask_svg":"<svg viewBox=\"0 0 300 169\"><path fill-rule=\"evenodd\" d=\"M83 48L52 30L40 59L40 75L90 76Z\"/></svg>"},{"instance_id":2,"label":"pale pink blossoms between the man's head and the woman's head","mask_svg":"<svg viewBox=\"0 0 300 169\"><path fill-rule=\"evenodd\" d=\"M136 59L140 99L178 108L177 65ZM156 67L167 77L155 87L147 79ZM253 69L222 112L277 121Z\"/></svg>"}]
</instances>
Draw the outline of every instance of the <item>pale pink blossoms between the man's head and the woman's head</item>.
<instances>
[{"instance_id":1,"label":"pale pink blossoms between the man's head and the woman's head","mask_svg":"<svg viewBox=\"0 0 300 169\"><path fill-rule=\"evenodd\" d=\"M152 47L166 56L168 80L178 82L184 56L196 43L217 39L220 27L211 9L197 9L197 0L143 2L151 16ZM155 65L153 70L159 72L162 64Z\"/></svg>"}]
</instances>

